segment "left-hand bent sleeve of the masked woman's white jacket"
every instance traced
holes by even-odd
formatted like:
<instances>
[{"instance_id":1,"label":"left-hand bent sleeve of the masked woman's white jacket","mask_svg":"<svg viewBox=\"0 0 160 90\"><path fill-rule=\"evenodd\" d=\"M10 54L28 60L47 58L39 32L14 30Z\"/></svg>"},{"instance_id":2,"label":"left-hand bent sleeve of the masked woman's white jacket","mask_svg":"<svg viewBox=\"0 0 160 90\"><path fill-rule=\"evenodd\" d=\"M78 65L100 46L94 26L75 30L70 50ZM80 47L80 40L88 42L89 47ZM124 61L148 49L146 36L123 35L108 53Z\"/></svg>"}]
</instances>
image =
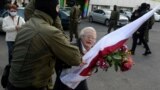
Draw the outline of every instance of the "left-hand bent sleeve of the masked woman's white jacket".
<instances>
[{"instance_id":1,"label":"left-hand bent sleeve of the masked woman's white jacket","mask_svg":"<svg viewBox=\"0 0 160 90\"><path fill-rule=\"evenodd\" d=\"M3 19L2 22L2 30L5 32L12 32L16 30L15 25L8 25L8 22L6 19Z\"/></svg>"}]
</instances>

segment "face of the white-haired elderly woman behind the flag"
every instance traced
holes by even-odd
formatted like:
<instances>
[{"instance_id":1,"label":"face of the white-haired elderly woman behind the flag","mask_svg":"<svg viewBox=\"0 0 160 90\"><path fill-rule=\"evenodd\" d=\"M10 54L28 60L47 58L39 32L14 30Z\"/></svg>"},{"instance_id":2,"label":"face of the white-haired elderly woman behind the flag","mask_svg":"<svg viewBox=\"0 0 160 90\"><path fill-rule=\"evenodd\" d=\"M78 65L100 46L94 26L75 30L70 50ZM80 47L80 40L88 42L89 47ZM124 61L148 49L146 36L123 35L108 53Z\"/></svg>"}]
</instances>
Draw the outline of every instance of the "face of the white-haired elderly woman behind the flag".
<instances>
[{"instance_id":1,"label":"face of the white-haired elderly woman behind the flag","mask_svg":"<svg viewBox=\"0 0 160 90\"><path fill-rule=\"evenodd\" d=\"M86 31L84 36L81 38L83 46L85 49L90 49L96 42L96 32Z\"/></svg>"}]
</instances>

